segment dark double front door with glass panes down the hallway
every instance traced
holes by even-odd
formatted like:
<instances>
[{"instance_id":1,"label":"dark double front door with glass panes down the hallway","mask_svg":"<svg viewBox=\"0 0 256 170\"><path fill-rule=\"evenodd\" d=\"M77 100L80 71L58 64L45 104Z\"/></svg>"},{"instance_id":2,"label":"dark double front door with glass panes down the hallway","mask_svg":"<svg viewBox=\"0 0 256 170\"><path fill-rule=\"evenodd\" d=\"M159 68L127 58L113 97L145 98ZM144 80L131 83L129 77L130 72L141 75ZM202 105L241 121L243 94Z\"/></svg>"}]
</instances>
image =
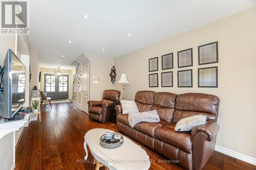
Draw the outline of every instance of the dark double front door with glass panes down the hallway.
<instances>
[{"instance_id":1,"label":"dark double front door with glass panes down the hallway","mask_svg":"<svg viewBox=\"0 0 256 170\"><path fill-rule=\"evenodd\" d=\"M69 76L45 74L44 91L52 100L69 99Z\"/></svg>"}]
</instances>

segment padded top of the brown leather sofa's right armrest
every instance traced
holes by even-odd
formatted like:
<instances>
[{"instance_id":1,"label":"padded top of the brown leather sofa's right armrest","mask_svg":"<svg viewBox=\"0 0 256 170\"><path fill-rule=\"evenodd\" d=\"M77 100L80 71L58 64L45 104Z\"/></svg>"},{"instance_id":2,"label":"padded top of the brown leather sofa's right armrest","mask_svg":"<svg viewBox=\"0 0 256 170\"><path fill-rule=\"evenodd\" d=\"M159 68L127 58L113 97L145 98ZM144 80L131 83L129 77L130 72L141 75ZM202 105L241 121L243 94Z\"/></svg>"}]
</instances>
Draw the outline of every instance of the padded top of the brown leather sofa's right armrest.
<instances>
[{"instance_id":1,"label":"padded top of the brown leather sofa's right armrest","mask_svg":"<svg viewBox=\"0 0 256 170\"><path fill-rule=\"evenodd\" d=\"M211 141L216 136L219 130L219 125L217 122L208 121L205 125L195 127L191 132L191 140L197 132L204 132L207 135L207 140Z\"/></svg>"}]
</instances>

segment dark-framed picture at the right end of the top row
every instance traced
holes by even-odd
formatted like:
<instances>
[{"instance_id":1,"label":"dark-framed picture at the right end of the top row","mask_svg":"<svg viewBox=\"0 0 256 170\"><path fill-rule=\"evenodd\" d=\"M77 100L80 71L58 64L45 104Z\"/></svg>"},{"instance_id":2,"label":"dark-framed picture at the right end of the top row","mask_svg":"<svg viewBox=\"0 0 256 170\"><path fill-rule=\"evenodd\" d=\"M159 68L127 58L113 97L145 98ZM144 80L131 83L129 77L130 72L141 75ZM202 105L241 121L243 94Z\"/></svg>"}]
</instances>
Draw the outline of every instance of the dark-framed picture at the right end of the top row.
<instances>
[{"instance_id":1,"label":"dark-framed picture at the right end of the top row","mask_svg":"<svg viewBox=\"0 0 256 170\"><path fill-rule=\"evenodd\" d=\"M218 41L198 46L199 65L218 62Z\"/></svg>"}]
</instances>

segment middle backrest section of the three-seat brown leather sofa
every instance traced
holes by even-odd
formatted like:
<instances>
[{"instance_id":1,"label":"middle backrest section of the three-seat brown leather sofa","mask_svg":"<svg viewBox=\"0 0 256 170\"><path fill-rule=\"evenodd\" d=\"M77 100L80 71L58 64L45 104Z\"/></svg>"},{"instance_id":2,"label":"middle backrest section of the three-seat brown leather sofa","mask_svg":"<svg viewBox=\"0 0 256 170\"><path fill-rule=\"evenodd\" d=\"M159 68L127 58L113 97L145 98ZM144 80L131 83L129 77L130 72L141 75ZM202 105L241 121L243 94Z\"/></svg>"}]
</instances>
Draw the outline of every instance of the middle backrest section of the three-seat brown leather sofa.
<instances>
[{"instance_id":1,"label":"middle backrest section of the three-seat brown leather sofa","mask_svg":"<svg viewBox=\"0 0 256 170\"><path fill-rule=\"evenodd\" d=\"M170 92L158 92L155 94L154 105L151 110L157 110L159 118L172 123L177 94Z\"/></svg>"}]
</instances>

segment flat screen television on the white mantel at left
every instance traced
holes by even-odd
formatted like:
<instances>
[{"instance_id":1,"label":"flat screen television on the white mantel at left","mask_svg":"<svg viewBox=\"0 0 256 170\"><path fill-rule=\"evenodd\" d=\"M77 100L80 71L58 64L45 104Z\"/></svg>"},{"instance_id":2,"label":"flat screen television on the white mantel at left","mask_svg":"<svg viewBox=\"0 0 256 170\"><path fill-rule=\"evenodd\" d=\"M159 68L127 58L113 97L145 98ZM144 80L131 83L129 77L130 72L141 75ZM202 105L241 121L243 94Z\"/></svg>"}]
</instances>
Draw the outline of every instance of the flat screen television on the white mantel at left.
<instances>
[{"instance_id":1,"label":"flat screen television on the white mantel at left","mask_svg":"<svg viewBox=\"0 0 256 170\"><path fill-rule=\"evenodd\" d=\"M2 117L11 118L25 104L26 67L8 50L3 66Z\"/></svg>"}]
</instances>

